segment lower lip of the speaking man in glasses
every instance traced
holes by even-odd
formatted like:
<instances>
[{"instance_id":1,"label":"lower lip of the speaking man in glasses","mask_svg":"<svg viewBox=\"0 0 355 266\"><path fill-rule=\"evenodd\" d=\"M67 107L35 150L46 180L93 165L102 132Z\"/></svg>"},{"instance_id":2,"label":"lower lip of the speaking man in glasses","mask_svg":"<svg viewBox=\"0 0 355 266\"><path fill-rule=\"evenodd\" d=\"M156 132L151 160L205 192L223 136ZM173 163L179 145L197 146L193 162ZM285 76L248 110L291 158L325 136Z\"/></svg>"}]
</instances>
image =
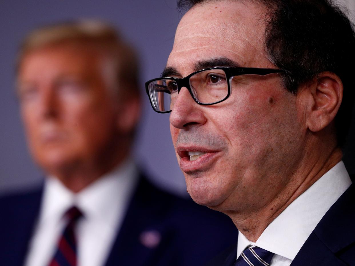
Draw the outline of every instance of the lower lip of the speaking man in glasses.
<instances>
[{"instance_id":1,"label":"lower lip of the speaking man in glasses","mask_svg":"<svg viewBox=\"0 0 355 266\"><path fill-rule=\"evenodd\" d=\"M189 156L182 157L180 159L180 168L185 173L203 171L213 164L212 160L215 159L218 154L219 152L205 153L194 161L190 161Z\"/></svg>"}]
</instances>

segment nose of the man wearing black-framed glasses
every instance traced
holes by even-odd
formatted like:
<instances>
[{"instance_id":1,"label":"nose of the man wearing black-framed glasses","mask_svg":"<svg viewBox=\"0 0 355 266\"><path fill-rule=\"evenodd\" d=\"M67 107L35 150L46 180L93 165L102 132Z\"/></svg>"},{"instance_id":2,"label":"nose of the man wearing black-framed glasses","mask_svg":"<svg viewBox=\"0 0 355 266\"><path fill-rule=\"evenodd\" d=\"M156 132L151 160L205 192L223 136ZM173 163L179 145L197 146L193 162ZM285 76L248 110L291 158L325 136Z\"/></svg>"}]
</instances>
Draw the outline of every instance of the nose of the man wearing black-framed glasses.
<instances>
[{"instance_id":1,"label":"nose of the man wearing black-framed glasses","mask_svg":"<svg viewBox=\"0 0 355 266\"><path fill-rule=\"evenodd\" d=\"M195 102L187 88L182 87L170 113L170 124L182 129L204 123L206 123L206 118L203 106Z\"/></svg>"}]
</instances>

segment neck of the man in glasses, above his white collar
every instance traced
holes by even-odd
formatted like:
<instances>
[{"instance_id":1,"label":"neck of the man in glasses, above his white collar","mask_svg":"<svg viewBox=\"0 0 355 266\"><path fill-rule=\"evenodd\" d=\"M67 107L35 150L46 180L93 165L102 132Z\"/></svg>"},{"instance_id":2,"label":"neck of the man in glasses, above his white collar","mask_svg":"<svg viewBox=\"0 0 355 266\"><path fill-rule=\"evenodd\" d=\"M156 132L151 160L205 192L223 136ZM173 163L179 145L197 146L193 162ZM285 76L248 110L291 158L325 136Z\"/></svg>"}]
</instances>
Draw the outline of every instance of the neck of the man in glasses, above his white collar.
<instances>
[{"instance_id":1,"label":"neck of the man in glasses, above his white collar","mask_svg":"<svg viewBox=\"0 0 355 266\"><path fill-rule=\"evenodd\" d=\"M311 187L319 178L342 160L342 151L335 148L328 156L304 160L291 182L272 201L261 209L251 212L229 212L239 231L247 239L256 242L265 228L289 206L298 196Z\"/></svg>"}]
</instances>

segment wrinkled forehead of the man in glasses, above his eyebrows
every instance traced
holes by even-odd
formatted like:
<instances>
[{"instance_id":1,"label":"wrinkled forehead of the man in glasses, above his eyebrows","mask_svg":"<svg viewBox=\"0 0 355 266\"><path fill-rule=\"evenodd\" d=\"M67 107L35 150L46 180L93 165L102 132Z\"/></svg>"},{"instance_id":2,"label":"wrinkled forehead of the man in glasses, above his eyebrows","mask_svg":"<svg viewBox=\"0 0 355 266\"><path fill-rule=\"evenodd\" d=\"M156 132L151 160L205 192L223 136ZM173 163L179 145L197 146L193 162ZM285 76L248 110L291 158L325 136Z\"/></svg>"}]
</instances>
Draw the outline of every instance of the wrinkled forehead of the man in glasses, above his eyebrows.
<instances>
[{"instance_id":1,"label":"wrinkled forehead of the man in glasses, above his eyebrows","mask_svg":"<svg viewBox=\"0 0 355 266\"><path fill-rule=\"evenodd\" d=\"M245 67L268 67L263 62L266 60L263 14L262 6L251 1L196 5L182 17L176 29L168 66L226 57Z\"/></svg>"}]
</instances>

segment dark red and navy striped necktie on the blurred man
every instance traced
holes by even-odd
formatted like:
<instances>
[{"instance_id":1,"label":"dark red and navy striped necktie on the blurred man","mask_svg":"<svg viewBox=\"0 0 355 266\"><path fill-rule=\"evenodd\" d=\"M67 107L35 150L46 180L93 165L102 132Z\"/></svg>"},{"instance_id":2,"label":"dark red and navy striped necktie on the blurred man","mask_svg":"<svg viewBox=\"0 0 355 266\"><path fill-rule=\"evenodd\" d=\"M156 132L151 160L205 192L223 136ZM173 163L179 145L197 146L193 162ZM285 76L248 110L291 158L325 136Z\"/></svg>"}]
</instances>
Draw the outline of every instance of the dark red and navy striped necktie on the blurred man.
<instances>
[{"instance_id":1,"label":"dark red and navy striped necktie on the blurred man","mask_svg":"<svg viewBox=\"0 0 355 266\"><path fill-rule=\"evenodd\" d=\"M49 266L77 266L75 227L82 213L77 207L71 207L65 216L68 223L59 237L57 249Z\"/></svg>"}]
</instances>

